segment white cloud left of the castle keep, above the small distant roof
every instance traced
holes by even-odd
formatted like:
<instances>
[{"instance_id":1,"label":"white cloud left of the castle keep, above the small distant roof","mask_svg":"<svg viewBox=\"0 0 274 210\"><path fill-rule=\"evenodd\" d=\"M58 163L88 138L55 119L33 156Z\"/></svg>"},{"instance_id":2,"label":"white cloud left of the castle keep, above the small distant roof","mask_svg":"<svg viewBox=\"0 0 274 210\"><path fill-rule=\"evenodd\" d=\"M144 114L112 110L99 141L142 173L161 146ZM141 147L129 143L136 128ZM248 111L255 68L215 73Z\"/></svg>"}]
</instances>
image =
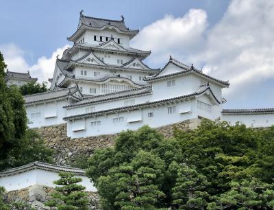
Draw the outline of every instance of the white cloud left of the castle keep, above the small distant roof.
<instances>
[{"instance_id":1,"label":"white cloud left of the castle keep, above the small distant roof","mask_svg":"<svg viewBox=\"0 0 274 210\"><path fill-rule=\"evenodd\" d=\"M56 56L62 57L63 51L69 47L65 45L53 51L50 58L42 56L38 58L35 65L28 65L24 56L25 52L14 43L0 45L0 50L5 58L5 63L10 71L27 72L29 71L32 77L38 78L39 82L47 81L52 78L55 67Z\"/></svg>"}]
</instances>

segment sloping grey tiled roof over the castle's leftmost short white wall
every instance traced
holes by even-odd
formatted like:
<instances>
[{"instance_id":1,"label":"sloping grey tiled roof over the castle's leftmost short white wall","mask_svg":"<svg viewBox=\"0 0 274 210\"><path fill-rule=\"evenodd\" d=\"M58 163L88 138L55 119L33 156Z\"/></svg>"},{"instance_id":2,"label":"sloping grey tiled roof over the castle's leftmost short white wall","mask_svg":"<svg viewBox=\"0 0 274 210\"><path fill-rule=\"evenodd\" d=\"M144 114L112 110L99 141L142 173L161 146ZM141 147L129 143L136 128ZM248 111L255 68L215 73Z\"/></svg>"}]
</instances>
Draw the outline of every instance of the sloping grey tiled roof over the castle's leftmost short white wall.
<instances>
[{"instance_id":1,"label":"sloping grey tiled roof over the castle's leftmost short white wall","mask_svg":"<svg viewBox=\"0 0 274 210\"><path fill-rule=\"evenodd\" d=\"M73 94L79 91L78 86L74 86L67 89L60 89L55 91L47 91L44 93L36 93L32 95L25 95L24 100L25 104L32 104L36 102L45 102L49 100L56 100L63 97L71 96L75 98L75 100L80 100L80 98L74 96Z\"/></svg>"}]
</instances>

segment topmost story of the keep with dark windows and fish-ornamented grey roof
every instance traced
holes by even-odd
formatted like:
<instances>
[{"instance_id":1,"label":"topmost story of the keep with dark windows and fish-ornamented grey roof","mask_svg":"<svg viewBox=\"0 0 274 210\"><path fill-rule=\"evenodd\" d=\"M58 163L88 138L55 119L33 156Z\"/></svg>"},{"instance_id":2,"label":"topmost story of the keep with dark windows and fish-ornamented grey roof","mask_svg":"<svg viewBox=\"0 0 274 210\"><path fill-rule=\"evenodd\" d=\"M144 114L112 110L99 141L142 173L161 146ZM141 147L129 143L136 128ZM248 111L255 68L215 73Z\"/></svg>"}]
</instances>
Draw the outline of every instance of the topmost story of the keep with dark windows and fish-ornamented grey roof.
<instances>
[{"instance_id":1,"label":"topmost story of the keep with dark windows and fish-ornamented grey roof","mask_svg":"<svg viewBox=\"0 0 274 210\"><path fill-rule=\"evenodd\" d=\"M110 20L85 16L83 12L80 12L76 32L68 38L73 43L98 45L113 39L119 45L129 47L129 41L139 32L125 25L123 15L121 20Z\"/></svg>"}]
</instances>

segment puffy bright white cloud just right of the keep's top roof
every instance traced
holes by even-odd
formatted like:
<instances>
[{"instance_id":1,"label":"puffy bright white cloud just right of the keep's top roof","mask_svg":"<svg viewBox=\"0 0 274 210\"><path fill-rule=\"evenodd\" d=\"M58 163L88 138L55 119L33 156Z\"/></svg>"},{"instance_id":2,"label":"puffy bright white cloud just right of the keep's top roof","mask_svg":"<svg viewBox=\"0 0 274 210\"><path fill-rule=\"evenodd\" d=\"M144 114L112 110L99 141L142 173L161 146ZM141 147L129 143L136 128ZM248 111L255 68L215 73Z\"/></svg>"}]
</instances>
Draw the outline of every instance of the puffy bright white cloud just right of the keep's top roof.
<instances>
[{"instance_id":1,"label":"puffy bright white cloud just right of the keep's top roof","mask_svg":"<svg viewBox=\"0 0 274 210\"><path fill-rule=\"evenodd\" d=\"M132 45L138 49L152 51L149 62L152 65L166 60L169 55L186 57L204 43L203 32L208 25L206 12L189 10L182 17L164 16L144 27L134 38Z\"/></svg>"}]
</instances>

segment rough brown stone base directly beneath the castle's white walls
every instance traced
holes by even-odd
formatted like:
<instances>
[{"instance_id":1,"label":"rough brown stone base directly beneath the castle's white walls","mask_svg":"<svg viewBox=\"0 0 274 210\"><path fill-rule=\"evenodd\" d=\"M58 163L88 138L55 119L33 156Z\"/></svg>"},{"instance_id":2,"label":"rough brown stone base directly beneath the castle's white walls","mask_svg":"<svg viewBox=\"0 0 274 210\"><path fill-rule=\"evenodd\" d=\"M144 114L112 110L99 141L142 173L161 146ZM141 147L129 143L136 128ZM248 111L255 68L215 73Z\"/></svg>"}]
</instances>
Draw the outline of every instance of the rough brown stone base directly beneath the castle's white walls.
<instances>
[{"instance_id":1,"label":"rough brown stone base directly beneath the castle's white walls","mask_svg":"<svg viewBox=\"0 0 274 210\"><path fill-rule=\"evenodd\" d=\"M164 137L173 136L173 128L188 130L196 128L201 119L189 119L157 128ZM55 150L55 164L69 165L78 154L90 156L96 148L105 148L114 144L115 135L101 135L97 137L86 137L71 139L66 137L66 124L37 128L46 145Z\"/></svg>"}]
</instances>

